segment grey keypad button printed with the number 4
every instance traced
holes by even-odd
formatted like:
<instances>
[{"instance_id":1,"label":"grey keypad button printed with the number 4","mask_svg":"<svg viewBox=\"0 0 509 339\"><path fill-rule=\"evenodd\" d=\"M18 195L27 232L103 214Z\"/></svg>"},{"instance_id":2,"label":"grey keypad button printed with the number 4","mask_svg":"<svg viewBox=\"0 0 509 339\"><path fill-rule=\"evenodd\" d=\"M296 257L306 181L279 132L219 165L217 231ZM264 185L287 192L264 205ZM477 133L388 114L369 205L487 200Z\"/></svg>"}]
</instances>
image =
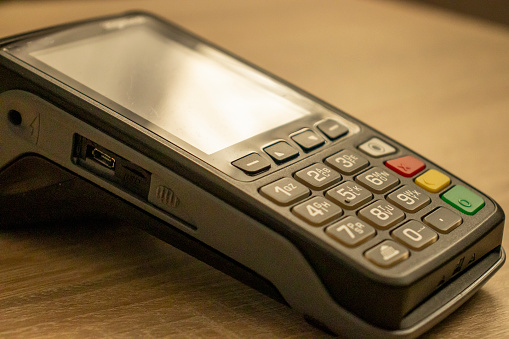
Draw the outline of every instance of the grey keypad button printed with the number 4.
<instances>
[{"instance_id":1,"label":"grey keypad button printed with the number 4","mask_svg":"<svg viewBox=\"0 0 509 339\"><path fill-rule=\"evenodd\" d=\"M314 197L292 209L292 213L311 225L325 225L343 214L341 207L322 197Z\"/></svg>"}]
</instances>

